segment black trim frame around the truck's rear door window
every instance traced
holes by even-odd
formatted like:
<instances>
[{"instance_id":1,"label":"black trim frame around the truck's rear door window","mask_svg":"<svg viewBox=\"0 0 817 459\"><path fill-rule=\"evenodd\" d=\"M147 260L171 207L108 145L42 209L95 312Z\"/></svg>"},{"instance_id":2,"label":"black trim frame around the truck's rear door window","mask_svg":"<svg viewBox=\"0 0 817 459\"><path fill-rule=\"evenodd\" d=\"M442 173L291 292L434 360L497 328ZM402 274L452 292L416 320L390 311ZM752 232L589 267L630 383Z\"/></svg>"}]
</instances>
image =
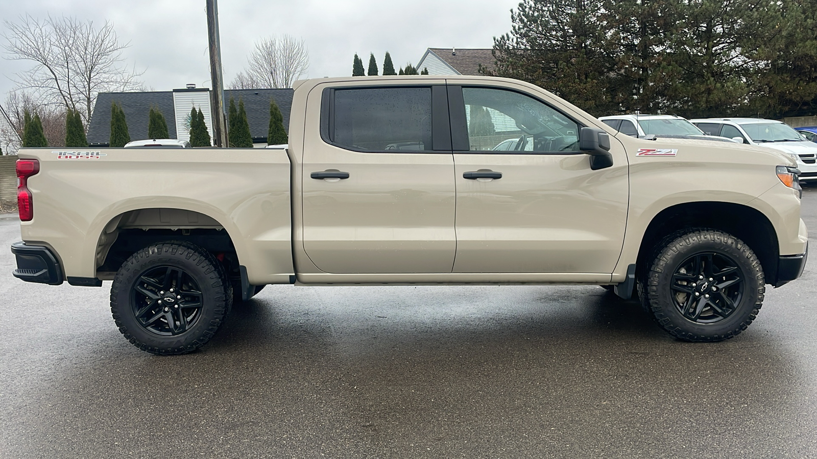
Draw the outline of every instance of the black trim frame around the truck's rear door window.
<instances>
[{"instance_id":1,"label":"black trim frame around the truck's rear door window","mask_svg":"<svg viewBox=\"0 0 817 459\"><path fill-rule=\"evenodd\" d=\"M430 88L431 89L431 149L428 150L400 150L400 149L355 149L349 145L335 142L335 91L346 89L402 89L402 88ZM340 149L356 151L358 153L391 153L391 154L440 154L451 153L451 127L449 123L449 103L444 84L413 84L413 85L371 85L371 86L333 86L324 87L320 95L320 138L325 144Z\"/></svg>"}]
</instances>

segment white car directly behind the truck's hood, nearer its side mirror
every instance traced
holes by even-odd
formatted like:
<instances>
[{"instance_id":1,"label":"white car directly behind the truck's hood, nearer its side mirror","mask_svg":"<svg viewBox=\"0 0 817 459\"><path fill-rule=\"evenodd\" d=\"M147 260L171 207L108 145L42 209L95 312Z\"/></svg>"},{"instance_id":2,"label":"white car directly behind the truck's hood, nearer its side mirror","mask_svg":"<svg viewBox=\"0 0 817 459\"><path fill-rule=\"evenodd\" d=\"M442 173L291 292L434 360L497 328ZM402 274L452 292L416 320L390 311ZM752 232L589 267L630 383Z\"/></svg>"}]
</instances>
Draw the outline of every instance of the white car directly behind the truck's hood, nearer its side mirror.
<instances>
[{"instance_id":1,"label":"white car directly behind the truck's hood, nearer its side mirror","mask_svg":"<svg viewBox=\"0 0 817 459\"><path fill-rule=\"evenodd\" d=\"M664 138L688 138L733 142L727 137L708 135L694 124L675 115L614 115L599 118L603 123L627 136L644 138L656 136Z\"/></svg>"}]
</instances>

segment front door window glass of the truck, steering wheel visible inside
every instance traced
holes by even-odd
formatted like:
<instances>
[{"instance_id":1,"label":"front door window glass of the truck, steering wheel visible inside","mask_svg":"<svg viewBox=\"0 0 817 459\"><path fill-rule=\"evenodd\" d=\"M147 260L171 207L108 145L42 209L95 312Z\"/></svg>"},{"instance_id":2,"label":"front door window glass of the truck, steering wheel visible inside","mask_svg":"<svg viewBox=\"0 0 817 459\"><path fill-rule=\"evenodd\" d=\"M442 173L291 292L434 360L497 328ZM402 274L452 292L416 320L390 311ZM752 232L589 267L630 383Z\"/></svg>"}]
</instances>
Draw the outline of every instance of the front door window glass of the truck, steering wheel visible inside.
<instances>
[{"instance_id":1,"label":"front door window glass of the truck, steering wheel visible inside","mask_svg":"<svg viewBox=\"0 0 817 459\"><path fill-rule=\"evenodd\" d=\"M464 87L462 98L472 150L492 150L515 140L508 142L508 153L578 151L578 124L550 105L519 92L484 87Z\"/></svg>"}]
</instances>

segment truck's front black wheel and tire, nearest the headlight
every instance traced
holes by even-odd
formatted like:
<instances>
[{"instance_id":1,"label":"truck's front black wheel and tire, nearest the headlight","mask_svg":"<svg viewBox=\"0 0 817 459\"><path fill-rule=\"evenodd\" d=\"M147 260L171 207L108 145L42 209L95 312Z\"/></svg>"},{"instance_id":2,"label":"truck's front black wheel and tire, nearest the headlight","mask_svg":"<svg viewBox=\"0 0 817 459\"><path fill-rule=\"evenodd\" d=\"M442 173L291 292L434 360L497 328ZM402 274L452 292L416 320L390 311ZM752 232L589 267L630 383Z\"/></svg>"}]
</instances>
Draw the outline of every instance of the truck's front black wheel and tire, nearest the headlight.
<instances>
[{"instance_id":1,"label":"truck's front black wheel and tire, nearest the headlight","mask_svg":"<svg viewBox=\"0 0 817 459\"><path fill-rule=\"evenodd\" d=\"M757 256L717 230L664 240L647 274L646 306L659 325L684 341L723 341L757 317L766 283Z\"/></svg>"}]
</instances>

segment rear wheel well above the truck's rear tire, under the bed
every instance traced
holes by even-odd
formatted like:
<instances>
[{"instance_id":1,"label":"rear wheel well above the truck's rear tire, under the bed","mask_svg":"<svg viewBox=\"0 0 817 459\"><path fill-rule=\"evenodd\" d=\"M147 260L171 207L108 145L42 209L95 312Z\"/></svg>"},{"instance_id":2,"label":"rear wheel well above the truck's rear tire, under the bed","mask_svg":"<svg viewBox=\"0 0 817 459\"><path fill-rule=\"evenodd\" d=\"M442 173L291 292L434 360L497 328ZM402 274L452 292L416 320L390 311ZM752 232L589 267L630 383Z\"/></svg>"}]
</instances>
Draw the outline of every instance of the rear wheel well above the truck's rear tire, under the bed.
<instances>
[{"instance_id":1,"label":"rear wheel well above the truck's rear tire, under the bed","mask_svg":"<svg viewBox=\"0 0 817 459\"><path fill-rule=\"evenodd\" d=\"M114 279L128 257L154 243L185 241L211 252L225 265L227 276L240 276L239 257L230 234L200 212L149 208L120 214L105 225L96 247L96 277Z\"/></svg>"}]
</instances>

